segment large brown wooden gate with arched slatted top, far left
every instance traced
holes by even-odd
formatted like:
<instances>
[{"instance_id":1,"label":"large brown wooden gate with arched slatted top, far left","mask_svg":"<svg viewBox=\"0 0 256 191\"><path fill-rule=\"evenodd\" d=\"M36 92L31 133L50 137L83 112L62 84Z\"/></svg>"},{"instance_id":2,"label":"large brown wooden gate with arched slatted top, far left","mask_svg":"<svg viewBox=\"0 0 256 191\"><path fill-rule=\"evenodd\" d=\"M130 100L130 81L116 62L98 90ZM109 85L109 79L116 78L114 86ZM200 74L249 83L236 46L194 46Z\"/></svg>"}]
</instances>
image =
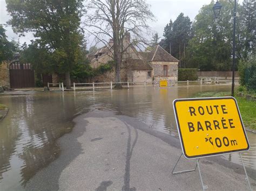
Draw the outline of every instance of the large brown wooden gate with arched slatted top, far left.
<instances>
[{"instance_id":1,"label":"large brown wooden gate with arched slatted top, far left","mask_svg":"<svg viewBox=\"0 0 256 191\"><path fill-rule=\"evenodd\" d=\"M35 87L34 71L30 63L19 63L18 60L10 64L11 88Z\"/></svg>"}]
</instances>

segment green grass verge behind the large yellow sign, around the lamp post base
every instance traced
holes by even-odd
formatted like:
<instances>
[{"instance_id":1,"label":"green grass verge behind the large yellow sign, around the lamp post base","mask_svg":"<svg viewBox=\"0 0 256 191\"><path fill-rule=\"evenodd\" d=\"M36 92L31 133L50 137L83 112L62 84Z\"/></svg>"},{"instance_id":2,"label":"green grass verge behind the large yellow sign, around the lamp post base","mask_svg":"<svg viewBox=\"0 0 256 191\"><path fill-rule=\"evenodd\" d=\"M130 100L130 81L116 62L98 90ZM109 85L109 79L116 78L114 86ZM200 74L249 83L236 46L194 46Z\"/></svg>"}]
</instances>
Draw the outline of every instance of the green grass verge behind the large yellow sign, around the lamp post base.
<instances>
[{"instance_id":1,"label":"green grass verge behind the large yellow sign, around the lamp post base","mask_svg":"<svg viewBox=\"0 0 256 191\"><path fill-rule=\"evenodd\" d=\"M201 92L194 97L224 97L230 96L230 92ZM256 101L246 100L244 97L235 96L244 122L245 128L256 130Z\"/></svg>"}]
</instances>

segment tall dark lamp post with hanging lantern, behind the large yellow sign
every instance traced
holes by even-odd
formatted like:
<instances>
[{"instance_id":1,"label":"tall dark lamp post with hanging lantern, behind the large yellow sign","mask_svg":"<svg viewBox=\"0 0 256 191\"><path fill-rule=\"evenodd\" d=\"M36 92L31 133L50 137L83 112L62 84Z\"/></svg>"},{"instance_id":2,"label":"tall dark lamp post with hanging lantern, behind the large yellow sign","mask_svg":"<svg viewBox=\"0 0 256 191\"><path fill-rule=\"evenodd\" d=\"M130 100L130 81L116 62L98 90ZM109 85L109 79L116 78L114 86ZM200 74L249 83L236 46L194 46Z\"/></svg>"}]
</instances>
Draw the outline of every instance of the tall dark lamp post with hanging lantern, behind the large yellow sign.
<instances>
[{"instance_id":1,"label":"tall dark lamp post with hanging lantern, behind the large yellow sign","mask_svg":"<svg viewBox=\"0 0 256 191\"><path fill-rule=\"evenodd\" d=\"M220 14L220 9L221 9L221 4L220 2L217 2L214 4L213 6L213 13L215 18L217 18ZM234 15L233 15L234 19L234 24L233 24L233 55L232 55L232 89L231 89L231 96L234 97L234 67L235 67L235 19L237 17L237 0L234 0Z\"/></svg>"}]
</instances>

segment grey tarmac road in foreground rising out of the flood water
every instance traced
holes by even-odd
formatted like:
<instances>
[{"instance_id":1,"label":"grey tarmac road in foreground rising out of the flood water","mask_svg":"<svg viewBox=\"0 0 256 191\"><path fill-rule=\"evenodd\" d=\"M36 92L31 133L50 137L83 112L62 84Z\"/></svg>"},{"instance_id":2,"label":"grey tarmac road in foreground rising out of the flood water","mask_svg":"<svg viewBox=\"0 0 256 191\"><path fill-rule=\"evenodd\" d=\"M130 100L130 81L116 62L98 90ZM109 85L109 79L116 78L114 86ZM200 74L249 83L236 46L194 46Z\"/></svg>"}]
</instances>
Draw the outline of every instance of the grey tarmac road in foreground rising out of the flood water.
<instances>
[{"instance_id":1,"label":"grey tarmac road in foreground rising out of the flood water","mask_svg":"<svg viewBox=\"0 0 256 191\"><path fill-rule=\"evenodd\" d=\"M172 175L181 154L178 138L152 130L137 119L92 111L74 119L59 139L58 159L39 171L26 190L201 190L198 169ZM196 160L182 158L177 170ZM220 157L200 159L207 190L248 190L244 169ZM256 190L256 172L248 168Z\"/></svg>"}]
</instances>

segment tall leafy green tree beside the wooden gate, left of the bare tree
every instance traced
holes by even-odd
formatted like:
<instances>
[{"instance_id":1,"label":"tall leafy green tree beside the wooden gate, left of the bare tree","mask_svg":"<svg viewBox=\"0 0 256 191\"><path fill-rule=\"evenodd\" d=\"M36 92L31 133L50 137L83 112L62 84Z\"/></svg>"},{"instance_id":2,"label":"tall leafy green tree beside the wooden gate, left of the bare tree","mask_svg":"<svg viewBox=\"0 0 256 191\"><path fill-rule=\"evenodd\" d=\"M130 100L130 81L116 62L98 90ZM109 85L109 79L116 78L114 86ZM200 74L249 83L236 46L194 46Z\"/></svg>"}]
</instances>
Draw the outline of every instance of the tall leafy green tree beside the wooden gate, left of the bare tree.
<instances>
[{"instance_id":1,"label":"tall leafy green tree beside the wooden gate, left of the bare tree","mask_svg":"<svg viewBox=\"0 0 256 191\"><path fill-rule=\"evenodd\" d=\"M65 74L66 88L70 89L70 71L80 55L83 1L6 0L6 4L14 31L34 33L36 44L51 54L56 72Z\"/></svg>"}]
</instances>

